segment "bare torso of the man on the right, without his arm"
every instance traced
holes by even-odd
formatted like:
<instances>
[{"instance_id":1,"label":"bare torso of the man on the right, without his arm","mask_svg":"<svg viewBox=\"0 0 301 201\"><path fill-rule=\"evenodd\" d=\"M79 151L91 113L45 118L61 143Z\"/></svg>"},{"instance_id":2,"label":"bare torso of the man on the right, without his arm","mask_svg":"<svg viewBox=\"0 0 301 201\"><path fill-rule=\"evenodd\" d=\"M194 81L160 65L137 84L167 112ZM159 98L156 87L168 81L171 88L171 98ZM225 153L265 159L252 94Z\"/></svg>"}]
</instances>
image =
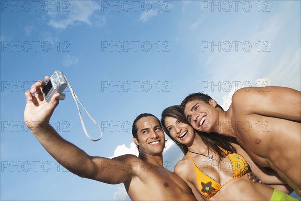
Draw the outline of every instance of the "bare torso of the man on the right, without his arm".
<instances>
[{"instance_id":1,"label":"bare torso of the man on the right, without his arm","mask_svg":"<svg viewBox=\"0 0 301 201\"><path fill-rule=\"evenodd\" d=\"M249 114L232 106L230 110L237 141L254 162L272 168L297 189L301 183L300 122Z\"/></svg>"}]
</instances>

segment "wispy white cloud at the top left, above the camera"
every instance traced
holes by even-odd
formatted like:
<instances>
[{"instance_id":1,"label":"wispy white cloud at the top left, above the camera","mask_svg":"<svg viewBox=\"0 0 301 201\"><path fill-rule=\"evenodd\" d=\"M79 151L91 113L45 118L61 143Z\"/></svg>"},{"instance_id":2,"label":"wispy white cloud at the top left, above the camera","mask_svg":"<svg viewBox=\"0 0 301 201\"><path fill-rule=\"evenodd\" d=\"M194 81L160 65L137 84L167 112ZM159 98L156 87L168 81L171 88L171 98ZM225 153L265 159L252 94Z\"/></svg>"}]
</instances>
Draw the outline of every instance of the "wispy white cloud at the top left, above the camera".
<instances>
[{"instance_id":1,"label":"wispy white cloud at the top left, above the camera","mask_svg":"<svg viewBox=\"0 0 301 201\"><path fill-rule=\"evenodd\" d=\"M56 29L65 29L76 23L86 23L89 26L103 26L104 17L93 16L94 12L101 7L95 1L70 1L65 12L48 12L50 16L49 25ZM100 21L97 21L100 20Z\"/></svg>"}]
</instances>

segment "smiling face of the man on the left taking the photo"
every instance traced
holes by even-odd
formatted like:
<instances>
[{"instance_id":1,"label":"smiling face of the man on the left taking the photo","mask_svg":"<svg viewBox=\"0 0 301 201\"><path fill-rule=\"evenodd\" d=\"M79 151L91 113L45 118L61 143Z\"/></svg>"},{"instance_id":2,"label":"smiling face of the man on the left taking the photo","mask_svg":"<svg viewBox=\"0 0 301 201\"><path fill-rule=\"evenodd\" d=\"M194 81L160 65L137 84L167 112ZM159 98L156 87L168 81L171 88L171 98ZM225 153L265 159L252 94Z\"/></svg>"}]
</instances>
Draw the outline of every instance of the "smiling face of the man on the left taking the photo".
<instances>
[{"instance_id":1,"label":"smiling face of the man on the left taking the photo","mask_svg":"<svg viewBox=\"0 0 301 201\"><path fill-rule=\"evenodd\" d=\"M153 116L142 117L136 127L138 139L134 137L133 140L140 154L162 155L165 139L160 122Z\"/></svg>"}]
</instances>

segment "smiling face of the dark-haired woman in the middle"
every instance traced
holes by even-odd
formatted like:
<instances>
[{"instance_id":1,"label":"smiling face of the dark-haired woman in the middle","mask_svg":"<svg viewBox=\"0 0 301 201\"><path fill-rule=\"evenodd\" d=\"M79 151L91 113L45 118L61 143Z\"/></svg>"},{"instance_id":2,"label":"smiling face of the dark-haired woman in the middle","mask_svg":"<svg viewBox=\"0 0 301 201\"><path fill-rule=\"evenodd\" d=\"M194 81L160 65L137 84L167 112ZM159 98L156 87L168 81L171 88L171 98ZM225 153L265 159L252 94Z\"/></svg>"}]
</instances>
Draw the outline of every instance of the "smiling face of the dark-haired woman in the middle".
<instances>
[{"instance_id":1,"label":"smiling face of the dark-haired woman in the middle","mask_svg":"<svg viewBox=\"0 0 301 201\"><path fill-rule=\"evenodd\" d=\"M169 132L170 137L172 137L177 142L186 146L190 145L193 142L195 132L190 125L181 122L175 117L166 117L164 119L164 126Z\"/></svg>"}]
</instances>

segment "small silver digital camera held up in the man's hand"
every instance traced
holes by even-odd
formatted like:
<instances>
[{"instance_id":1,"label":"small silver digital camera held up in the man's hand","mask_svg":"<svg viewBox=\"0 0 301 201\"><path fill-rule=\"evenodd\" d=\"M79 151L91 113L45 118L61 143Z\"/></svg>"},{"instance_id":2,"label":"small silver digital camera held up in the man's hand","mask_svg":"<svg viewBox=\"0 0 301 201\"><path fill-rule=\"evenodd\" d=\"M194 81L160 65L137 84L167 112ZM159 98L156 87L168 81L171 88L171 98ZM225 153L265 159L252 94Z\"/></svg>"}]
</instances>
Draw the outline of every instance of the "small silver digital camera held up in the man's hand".
<instances>
[{"instance_id":1,"label":"small silver digital camera held up in the man's hand","mask_svg":"<svg viewBox=\"0 0 301 201\"><path fill-rule=\"evenodd\" d=\"M51 97L56 93L60 93L60 98L59 100L64 100L65 99L65 94L63 91L67 87L68 82L65 78L65 75L63 74L62 71L57 70L53 73L53 75L50 77L48 82L45 84L43 87L43 95L46 100L46 102L50 102Z\"/></svg>"}]
</instances>

